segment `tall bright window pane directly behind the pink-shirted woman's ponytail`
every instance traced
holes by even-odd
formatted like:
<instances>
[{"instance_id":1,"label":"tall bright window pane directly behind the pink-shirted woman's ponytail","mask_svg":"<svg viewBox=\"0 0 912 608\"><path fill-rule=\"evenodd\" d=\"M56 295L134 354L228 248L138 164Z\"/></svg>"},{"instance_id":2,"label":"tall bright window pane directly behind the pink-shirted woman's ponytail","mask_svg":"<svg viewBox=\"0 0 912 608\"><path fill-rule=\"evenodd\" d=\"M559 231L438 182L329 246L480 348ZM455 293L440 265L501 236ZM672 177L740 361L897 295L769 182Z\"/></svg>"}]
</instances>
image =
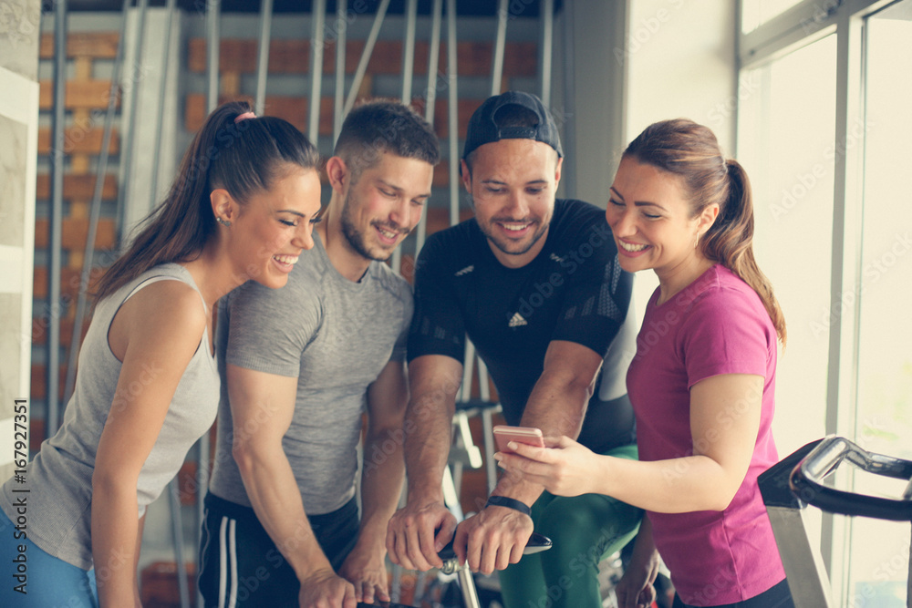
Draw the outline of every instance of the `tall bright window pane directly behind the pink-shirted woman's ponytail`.
<instances>
[{"instance_id":1,"label":"tall bright window pane directly behind the pink-shirted woman's ponytail","mask_svg":"<svg viewBox=\"0 0 912 608\"><path fill-rule=\"evenodd\" d=\"M824 435L833 231L835 36L741 75L739 154L757 263L788 331L773 433L785 456ZM808 95L813 91L813 95Z\"/></svg>"}]
</instances>

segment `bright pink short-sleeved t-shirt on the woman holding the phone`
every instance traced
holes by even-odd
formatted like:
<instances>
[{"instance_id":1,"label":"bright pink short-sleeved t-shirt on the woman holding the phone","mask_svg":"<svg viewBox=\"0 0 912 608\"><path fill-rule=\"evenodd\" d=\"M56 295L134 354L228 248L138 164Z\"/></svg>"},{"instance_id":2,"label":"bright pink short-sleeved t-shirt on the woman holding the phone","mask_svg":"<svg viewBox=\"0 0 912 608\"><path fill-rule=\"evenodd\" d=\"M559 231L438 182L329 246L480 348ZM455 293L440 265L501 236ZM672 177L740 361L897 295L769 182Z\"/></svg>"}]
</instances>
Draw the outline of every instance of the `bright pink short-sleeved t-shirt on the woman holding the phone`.
<instances>
[{"instance_id":1,"label":"bright pink short-sleeved t-shirt on the woman holding the phone","mask_svg":"<svg viewBox=\"0 0 912 608\"><path fill-rule=\"evenodd\" d=\"M668 302L657 305L657 299L658 289L649 299L637 356L627 372L641 460L690 456L695 441L712 441L712 433L731 424L730 414L720 415L718 430L692 438L690 386L720 374L765 378L751 466L731 504L722 511L648 511L658 551L685 603L740 602L785 578L757 487L757 476L778 461L770 429L776 330L760 297L718 264Z\"/></svg>"}]
</instances>

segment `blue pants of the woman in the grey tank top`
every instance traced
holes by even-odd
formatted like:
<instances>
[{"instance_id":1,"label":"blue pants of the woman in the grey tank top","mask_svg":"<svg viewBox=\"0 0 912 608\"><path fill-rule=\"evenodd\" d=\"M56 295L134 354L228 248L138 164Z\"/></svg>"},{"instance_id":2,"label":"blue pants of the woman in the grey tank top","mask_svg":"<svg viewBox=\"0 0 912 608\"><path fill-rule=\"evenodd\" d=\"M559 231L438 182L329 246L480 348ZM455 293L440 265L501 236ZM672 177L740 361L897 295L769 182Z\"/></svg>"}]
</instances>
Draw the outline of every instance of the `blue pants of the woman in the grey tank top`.
<instances>
[{"instance_id":1,"label":"blue pants of the woman in the grey tank top","mask_svg":"<svg viewBox=\"0 0 912 608\"><path fill-rule=\"evenodd\" d=\"M0 606L98 608L95 571L49 555L0 510Z\"/></svg>"}]
</instances>

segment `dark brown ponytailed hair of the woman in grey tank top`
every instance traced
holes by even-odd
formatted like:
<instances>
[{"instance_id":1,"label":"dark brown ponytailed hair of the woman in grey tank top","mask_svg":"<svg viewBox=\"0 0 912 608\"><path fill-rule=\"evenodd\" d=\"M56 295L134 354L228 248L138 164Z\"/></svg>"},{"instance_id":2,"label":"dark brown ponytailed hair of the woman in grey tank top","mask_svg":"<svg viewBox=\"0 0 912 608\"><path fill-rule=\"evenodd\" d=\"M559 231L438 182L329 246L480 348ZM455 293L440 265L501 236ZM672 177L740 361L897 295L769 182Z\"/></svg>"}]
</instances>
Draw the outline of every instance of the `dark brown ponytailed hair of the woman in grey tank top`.
<instances>
[{"instance_id":1,"label":"dark brown ponytailed hair of the woman in grey tank top","mask_svg":"<svg viewBox=\"0 0 912 608\"><path fill-rule=\"evenodd\" d=\"M316 170L319 154L299 130L275 117L237 120L251 110L246 101L232 101L212 111L184 154L168 196L98 280L97 300L155 265L199 256L216 228L209 200L213 190L223 188L244 204L256 192L268 191L288 164Z\"/></svg>"}]
</instances>

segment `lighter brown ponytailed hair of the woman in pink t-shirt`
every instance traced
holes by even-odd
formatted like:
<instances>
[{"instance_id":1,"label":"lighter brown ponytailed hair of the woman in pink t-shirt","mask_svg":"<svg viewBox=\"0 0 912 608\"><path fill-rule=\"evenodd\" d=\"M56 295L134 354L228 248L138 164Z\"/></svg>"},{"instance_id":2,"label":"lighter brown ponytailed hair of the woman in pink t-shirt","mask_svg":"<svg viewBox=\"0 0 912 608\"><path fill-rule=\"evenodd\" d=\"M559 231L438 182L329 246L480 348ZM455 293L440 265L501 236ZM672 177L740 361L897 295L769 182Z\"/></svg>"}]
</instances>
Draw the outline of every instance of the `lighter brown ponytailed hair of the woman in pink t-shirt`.
<instances>
[{"instance_id":1,"label":"lighter brown ponytailed hair of the woman in pink t-shirt","mask_svg":"<svg viewBox=\"0 0 912 608\"><path fill-rule=\"evenodd\" d=\"M680 176L689 194L690 217L697 217L713 203L719 205L719 216L700 239L700 251L757 292L785 345L782 308L753 256L751 181L741 164L725 160L712 130L689 119L648 126L630 142L624 156Z\"/></svg>"}]
</instances>

